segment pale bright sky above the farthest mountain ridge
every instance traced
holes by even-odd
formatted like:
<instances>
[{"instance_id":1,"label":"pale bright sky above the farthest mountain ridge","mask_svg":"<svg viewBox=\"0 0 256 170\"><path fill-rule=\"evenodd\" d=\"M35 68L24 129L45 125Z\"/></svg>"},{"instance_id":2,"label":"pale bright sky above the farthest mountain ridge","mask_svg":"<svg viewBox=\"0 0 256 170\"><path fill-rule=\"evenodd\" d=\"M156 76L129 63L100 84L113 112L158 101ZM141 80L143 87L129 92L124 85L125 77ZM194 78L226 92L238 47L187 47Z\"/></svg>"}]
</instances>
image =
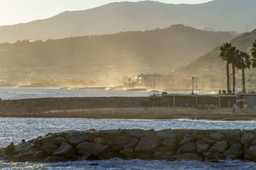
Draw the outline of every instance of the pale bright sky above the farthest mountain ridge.
<instances>
[{"instance_id":1,"label":"pale bright sky above the farthest mountain ridge","mask_svg":"<svg viewBox=\"0 0 256 170\"><path fill-rule=\"evenodd\" d=\"M124 0L123 0L124 1ZM136 0L126 0L135 2ZM205 3L212 0L155 0L162 3ZM120 0L0 0L0 25L49 18L63 11L86 10Z\"/></svg>"}]
</instances>

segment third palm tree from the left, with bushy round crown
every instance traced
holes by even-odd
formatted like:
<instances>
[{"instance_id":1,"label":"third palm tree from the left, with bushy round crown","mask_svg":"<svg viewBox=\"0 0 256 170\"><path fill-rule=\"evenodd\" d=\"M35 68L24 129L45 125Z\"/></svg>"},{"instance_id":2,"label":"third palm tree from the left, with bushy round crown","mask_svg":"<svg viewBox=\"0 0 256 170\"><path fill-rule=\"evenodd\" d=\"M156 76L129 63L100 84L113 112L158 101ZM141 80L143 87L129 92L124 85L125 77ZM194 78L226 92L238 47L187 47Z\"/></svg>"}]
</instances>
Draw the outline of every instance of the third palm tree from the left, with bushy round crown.
<instances>
[{"instance_id":1,"label":"third palm tree from the left, with bushy round crown","mask_svg":"<svg viewBox=\"0 0 256 170\"><path fill-rule=\"evenodd\" d=\"M251 67L250 55L246 52L240 52L236 58L236 67L237 69L242 69L242 77L243 77L243 92L245 93L245 77L244 77L244 69Z\"/></svg>"}]
</instances>

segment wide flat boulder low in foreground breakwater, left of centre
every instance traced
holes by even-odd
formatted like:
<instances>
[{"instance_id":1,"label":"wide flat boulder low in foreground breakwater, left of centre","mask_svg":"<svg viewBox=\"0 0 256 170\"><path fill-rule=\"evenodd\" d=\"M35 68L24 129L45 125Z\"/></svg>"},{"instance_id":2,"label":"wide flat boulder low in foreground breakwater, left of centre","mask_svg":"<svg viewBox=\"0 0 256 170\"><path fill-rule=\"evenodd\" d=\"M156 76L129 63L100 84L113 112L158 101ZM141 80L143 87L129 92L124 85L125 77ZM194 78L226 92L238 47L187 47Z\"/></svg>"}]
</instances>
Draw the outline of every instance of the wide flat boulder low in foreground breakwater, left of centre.
<instances>
[{"instance_id":1,"label":"wide flat boulder low in foreground breakwater, left of centre","mask_svg":"<svg viewBox=\"0 0 256 170\"><path fill-rule=\"evenodd\" d=\"M108 151L108 148L109 148L108 145L101 145L99 143L88 143L88 142L79 143L79 145L76 146L78 154L84 155L86 153L90 153L94 157Z\"/></svg>"}]
</instances>

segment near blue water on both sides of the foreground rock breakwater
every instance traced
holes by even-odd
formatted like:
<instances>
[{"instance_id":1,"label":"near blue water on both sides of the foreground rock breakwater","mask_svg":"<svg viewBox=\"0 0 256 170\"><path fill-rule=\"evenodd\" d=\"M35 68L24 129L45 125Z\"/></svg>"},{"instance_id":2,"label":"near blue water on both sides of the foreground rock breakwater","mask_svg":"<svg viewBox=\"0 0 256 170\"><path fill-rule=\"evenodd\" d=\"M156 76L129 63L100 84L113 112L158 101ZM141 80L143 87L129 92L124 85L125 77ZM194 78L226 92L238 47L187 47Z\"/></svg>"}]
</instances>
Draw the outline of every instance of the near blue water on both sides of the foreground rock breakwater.
<instances>
[{"instance_id":1,"label":"near blue water on both sides of the foreground rock breakwater","mask_svg":"<svg viewBox=\"0 0 256 170\"><path fill-rule=\"evenodd\" d=\"M44 136L48 132L87 129L254 129L255 121L210 121L210 120L120 120L83 118L0 118L0 147L11 141L20 143L21 139ZM98 166L91 164L97 163ZM4 162L0 169L256 169L255 162L241 160L222 163L196 160L84 160L59 163Z\"/></svg>"}]
</instances>

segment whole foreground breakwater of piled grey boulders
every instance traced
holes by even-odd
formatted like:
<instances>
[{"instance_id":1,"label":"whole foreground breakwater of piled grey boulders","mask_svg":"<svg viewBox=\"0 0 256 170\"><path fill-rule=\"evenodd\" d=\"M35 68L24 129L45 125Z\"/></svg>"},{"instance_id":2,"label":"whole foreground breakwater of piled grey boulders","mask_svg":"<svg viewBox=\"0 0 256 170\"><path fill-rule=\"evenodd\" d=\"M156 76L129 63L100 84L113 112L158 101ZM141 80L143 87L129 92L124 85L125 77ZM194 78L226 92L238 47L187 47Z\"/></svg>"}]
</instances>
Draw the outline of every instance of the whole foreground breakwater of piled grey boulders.
<instances>
[{"instance_id":1,"label":"whole foreground breakwater of piled grey boulders","mask_svg":"<svg viewBox=\"0 0 256 170\"><path fill-rule=\"evenodd\" d=\"M50 133L1 148L0 157L14 162L105 160L256 161L256 129L172 130L118 129Z\"/></svg>"}]
</instances>

